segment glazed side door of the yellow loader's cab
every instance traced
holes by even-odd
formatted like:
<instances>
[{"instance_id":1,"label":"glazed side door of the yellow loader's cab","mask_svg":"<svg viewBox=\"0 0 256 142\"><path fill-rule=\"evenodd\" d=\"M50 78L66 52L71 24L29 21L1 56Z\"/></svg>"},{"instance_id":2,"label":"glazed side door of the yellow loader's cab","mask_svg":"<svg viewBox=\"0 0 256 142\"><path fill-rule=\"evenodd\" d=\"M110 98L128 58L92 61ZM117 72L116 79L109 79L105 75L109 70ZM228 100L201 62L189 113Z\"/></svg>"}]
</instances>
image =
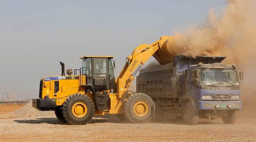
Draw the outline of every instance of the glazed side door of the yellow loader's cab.
<instances>
[{"instance_id":1,"label":"glazed side door of the yellow loader's cab","mask_svg":"<svg viewBox=\"0 0 256 142\"><path fill-rule=\"evenodd\" d=\"M107 66L108 58L92 58L93 59L93 87L94 89L107 89Z\"/></svg>"}]
</instances>

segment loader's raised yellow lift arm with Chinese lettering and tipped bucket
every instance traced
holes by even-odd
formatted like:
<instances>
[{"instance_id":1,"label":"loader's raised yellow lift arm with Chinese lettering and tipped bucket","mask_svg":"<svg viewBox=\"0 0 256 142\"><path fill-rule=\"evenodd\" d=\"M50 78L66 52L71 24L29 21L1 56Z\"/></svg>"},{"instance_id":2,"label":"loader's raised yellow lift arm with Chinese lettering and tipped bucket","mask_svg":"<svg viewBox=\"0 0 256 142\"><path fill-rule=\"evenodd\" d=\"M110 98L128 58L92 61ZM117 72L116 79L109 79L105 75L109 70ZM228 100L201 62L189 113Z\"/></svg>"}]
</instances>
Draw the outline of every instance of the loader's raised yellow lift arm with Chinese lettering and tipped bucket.
<instances>
[{"instance_id":1,"label":"loader's raised yellow lift arm with Chinese lettering and tipped bucket","mask_svg":"<svg viewBox=\"0 0 256 142\"><path fill-rule=\"evenodd\" d=\"M123 70L116 79L118 98L122 98L122 96L127 93L129 85L134 80L134 75L152 55L160 64L166 64L172 61L172 54L168 52L166 46L168 40L171 38L171 36L162 36L151 45L141 44L135 48L132 54L127 58L128 60Z\"/></svg>"}]
</instances>

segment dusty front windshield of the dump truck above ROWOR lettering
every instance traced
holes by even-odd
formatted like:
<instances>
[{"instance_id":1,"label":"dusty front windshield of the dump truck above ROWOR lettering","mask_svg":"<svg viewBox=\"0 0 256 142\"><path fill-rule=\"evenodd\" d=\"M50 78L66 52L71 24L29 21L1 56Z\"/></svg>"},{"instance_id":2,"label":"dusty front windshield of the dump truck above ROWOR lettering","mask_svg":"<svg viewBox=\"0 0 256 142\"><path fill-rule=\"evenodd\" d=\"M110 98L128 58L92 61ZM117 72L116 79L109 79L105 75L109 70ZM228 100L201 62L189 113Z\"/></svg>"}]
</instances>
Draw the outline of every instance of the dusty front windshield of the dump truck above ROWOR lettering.
<instances>
[{"instance_id":1,"label":"dusty front windshield of the dump truck above ROWOR lettering","mask_svg":"<svg viewBox=\"0 0 256 142\"><path fill-rule=\"evenodd\" d=\"M238 78L234 69L202 69L200 72L202 85L231 84L237 85Z\"/></svg>"}]
</instances>

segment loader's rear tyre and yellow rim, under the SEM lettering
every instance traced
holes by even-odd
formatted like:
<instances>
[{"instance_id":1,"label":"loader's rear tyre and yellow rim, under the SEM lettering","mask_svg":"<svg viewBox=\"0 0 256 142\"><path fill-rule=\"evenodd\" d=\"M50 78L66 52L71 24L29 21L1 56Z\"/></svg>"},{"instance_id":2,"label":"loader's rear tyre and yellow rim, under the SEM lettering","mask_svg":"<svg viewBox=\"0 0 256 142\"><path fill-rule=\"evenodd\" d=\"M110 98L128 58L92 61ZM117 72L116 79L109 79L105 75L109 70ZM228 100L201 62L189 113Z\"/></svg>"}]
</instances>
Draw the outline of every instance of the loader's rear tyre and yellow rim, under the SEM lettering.
<instances>
[{"instance_id":1,"label":"loader's rear tyre and yellow rim, under the SEM lettering","mask_svg":"<svg viewBox=\"0 0 256 142\"><path fill-rule=\"evenodd\" d=\"M71 95L66 99L62 107L65 120L70 124L81 125L92 120L94 115L92 100L82 94Z\"/></svg>"}]
</instances>

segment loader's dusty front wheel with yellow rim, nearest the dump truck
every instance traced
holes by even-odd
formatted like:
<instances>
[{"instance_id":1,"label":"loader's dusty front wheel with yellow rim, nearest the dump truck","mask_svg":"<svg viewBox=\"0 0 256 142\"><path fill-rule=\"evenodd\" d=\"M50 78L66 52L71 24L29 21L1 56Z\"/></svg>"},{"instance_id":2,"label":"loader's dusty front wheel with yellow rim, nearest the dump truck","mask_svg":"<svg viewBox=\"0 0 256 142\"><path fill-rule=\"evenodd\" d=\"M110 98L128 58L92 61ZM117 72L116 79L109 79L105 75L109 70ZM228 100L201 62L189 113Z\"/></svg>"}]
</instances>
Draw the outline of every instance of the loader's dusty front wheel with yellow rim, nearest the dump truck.
<instances>
[{"instance_id":1,"label":"loader's dusty front wheel with yellow rim, nearest the dump truck","mask_svg":"<svg viewBox=\"0 0 256 142\"><path fill-rule=\"evenodd\" d=\"M155 114L155 104L146 94L132 94L124 103L124 115L132 123L149 122Z\"/></svg>"}]
</instances>

